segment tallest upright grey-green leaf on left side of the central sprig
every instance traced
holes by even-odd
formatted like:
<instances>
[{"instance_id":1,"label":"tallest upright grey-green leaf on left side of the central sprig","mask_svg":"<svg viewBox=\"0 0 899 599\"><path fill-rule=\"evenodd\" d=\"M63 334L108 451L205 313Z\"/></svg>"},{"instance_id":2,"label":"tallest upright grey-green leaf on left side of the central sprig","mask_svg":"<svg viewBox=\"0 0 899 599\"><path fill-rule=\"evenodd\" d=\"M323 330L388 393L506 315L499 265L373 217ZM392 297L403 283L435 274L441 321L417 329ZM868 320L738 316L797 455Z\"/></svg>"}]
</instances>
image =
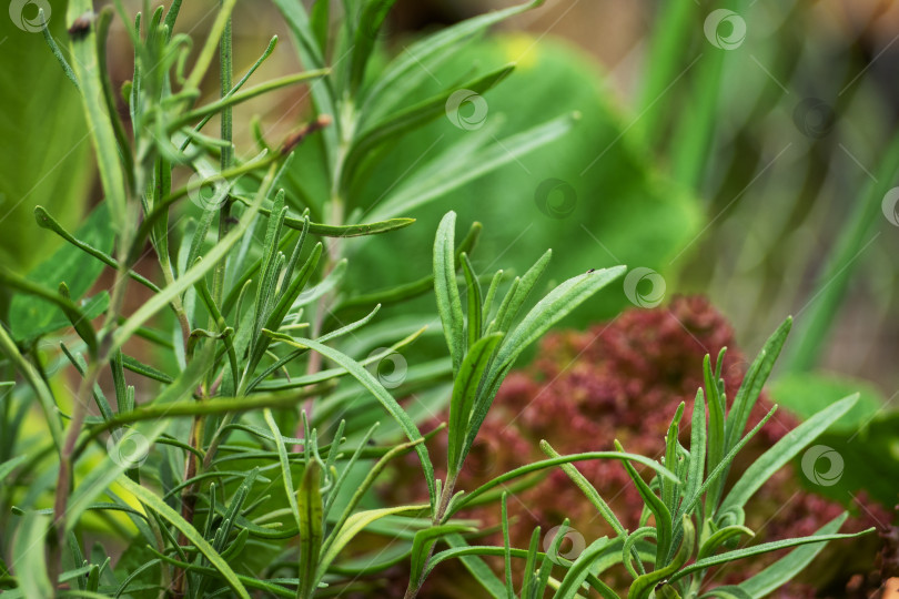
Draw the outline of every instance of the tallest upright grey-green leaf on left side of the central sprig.
<instances>
[{"instance_id":1,"label":"tallest upright grey-green leaf on left side of the central sprig","mask_svg":"<svg viewBox=\"0 0 899 599\"><path fill-rule=\"evenodd\" d=\"M437 296L437 312L453 361L453 372L458 374L465 356L465 321L462 315L462 300L458 295L453 258L455 235L456 213L451 211L441 221L434 240L434 294Z\"/></svg>"}]
</instances>

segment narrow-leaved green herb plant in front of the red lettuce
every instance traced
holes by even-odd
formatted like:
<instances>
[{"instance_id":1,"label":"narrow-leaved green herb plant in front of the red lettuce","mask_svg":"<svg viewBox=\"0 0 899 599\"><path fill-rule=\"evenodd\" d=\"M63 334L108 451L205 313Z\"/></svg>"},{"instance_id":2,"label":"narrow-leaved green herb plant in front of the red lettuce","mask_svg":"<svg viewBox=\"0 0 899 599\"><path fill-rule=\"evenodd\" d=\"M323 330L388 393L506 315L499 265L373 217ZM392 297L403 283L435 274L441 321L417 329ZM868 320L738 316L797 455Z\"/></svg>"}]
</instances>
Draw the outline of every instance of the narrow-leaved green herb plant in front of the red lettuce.
<instances>
[{"instance_id":1,"label":"narrow-leaved green herb plant in front of the red lettuce","mask_svg":"<svg viewBox=\"0 0 899 599\"><path fill-rule=\"evenodd\" d=\"M546 460L478 489L457 489L493 398L522 353L625 268L568 278L525 311L550 253L511 281L502 271L482 280L469 260L479 225L473 224L457 245L453 212L436 232L433 273L398 288L346 297L344 253L354 237L412 225L400 212L477 174L459 171L455 181L434 191L428 184L433 171L417 173L420 194L405 189L398 200L378 207L374 221L365 219L373 206L355 203L357 185L403 133L442 116L458 89L486 92L512 71L479 74L404 105L405 92L426 72L416 65L438 63L491 24L539 2L451 27L375 74L370 65L391 1L347 0L334 29L335 9L326 0L309 12L297 0L275 0L309 70L244 89L276 39L234 81L235 1L222 0L190 65L191 38L173 33L180 1L168 11L144 2L132 19L120 1L94 14L90 0L71 0L68 52L44 27L62 67L60 77L81 94L104 199L74 233L39 206L38 224L71 247L28 277L0 270L0 281L17 293L10 325L0 327L8 379L0 464L0 478L9 479L0 504L7 531L0 582L7 595L377 595L378 572L407 560L406 596L415 597L434 567L458 558L488 593L499 597L514 595L509 572L516 557L525 560L526 597L543 596L547 586L558 597L575 597L585 586L615 597L599 577L622 560L635 576L629 597L694 597L709 566L758 551L810 547L727 591L752 597L801 568L821 541L847 537L836 534L837 520L814 537L719 551L746 534L743 505L761 481L855 400L808 419L723 493L734 455L758 429L744 435L789 324L771 338L727 410L720 373L706 364L707 389L694 404L690 446L677 443L681 408L661 463L620 447L559 456L544 445ZM117 17L134 48L133 78L121 90L130 128L119 116L119 90L112 89L105 68L107 35ZM198 105L216 53L220 98ZM240 158L232 140L233 106L300 83L311 83L312 118L277 144L256 128L257 148ZM213 116L220 121L218 136L203 132ZM549 121L534 139L522 132L512 151L495 140L497 145L479 148L476 155L489 156L489 166L496 167L570 125L567 118ZM323 189L304 185L307 164L295 158L306 144L321 150L323 161L313 164ZM175 184L189 173L186 184ZM156 258L159 277L138 272L147 254ZM85 298L101 265L112 271L112 282ZM127 295L135 285L147 300L128 314ZM425 333L387 335L390 346L367 357L358 348L384 338L367 333L381 305L432 288L448 361L426 364L388 389L370 367L414 347ZM347 304L364 308L365 315L341 321L334 311ZM65 332L60 335L60 329ZM39 352L48 338L79 377L71 394L48 374L50 364ZM448 423L423 434L422 418L397 397L413 388L442 393L446 386L438 384L446 380ZM147 400L138 402L139 389L152 389ZM42 410L46 435L20 434L32 405ZM370 423L372 405L386 426ZM434 476L427 451L433 435L447 436L445 480ZM375 505L372 486L391 460L407 453L420 460L426 501ZM651 518L653 526L628 532L617 525L616 538L594 541L574 561L554 557L560 540L550 551L538 551L538 532L526 550L468 544L477 529L454 518L459 510L495 498L506 481L555 466L616 526L599 494L570 466L585 459L620 461L646 502L645 522ZM635 465L654 471L654 479L644 481ZM505 512L505 495L502 506ZM91 547L93 536L101 540ZM374 549L370 536L381 539ZM448 549L437 551L438 544ZM485 555L505 557L504 582L479 561ZM687 565L691 557L696 561ZM553 565L563 576L552 576Z\"/></svg>"}]
</instances>

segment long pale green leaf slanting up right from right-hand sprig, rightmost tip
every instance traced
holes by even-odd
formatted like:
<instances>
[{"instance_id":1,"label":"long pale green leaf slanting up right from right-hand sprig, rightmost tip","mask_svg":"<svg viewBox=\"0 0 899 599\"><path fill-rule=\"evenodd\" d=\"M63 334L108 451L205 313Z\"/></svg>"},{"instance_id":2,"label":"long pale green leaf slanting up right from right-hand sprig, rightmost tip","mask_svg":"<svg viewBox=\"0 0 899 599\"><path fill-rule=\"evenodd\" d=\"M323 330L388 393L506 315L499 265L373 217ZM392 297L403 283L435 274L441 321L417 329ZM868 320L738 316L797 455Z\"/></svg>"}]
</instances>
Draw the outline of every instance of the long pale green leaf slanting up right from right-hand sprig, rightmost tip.
<instances>
[{"instance_id":1,"label":"long pale green leaf slanting up right from right-hand sprig, rightmost tip","mask_svg":"<svg viewBox=\"0 0 899 599\"><path fill-rule=\"evenodd\" d=\"M761 487L777 470L796 457L808 444L814 441L821 433L837 422L858 400L858 394L850 395L827 409L824 409L800 424L777 441L770 449L759 456L749 466L730 493L721 501L719 511L727 511L733 507L743 507L746 501Z\"/></svg>"}]
</instances>

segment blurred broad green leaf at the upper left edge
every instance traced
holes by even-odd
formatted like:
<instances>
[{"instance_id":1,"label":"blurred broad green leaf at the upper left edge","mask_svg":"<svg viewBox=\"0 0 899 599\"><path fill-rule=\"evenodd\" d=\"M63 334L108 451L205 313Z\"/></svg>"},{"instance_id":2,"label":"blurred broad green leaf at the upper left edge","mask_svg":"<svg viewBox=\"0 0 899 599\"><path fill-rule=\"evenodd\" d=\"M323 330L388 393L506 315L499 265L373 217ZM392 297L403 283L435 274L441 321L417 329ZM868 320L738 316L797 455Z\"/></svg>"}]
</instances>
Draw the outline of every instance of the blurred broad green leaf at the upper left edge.
<instances>
[{"instance_id":1,"label":"blurred broad green leaf at the upper left edge","mask_svg":"<svg viewBox=\"0 0 899 599\"><path fill-rule=\"evenodd\" d=\"M69 55L65 4L52 4L52 13L44 11L48 33ZM17 7L18 22L13 20ZM50 3L43 7L50 8ZM0 263L24 274L61 245L34 226L34 206L47 206L64 226L75 227L88 212L95 173L78 90L38 30L38 4L7 2L3 8L10 12L0 16L0 40L4 40L0 69ZM28 27L19 27L23 21ZM105 240L112 242L110 236ZM58 284L48 286L55 288Z\"/></svg>"}]
</instances>

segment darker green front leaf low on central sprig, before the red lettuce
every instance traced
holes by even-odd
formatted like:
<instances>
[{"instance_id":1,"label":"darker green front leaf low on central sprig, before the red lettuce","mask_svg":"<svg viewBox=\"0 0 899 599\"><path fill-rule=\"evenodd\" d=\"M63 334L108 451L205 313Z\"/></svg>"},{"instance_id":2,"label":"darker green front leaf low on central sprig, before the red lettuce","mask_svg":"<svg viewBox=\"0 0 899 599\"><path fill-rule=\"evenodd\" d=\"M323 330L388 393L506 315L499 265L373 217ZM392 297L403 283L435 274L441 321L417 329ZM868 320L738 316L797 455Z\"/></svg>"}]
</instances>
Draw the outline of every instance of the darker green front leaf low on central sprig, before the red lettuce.
<instances>
[{"instance_id":1,"label":"darker green front leaf low on central sprig, before the red lettuce","mask_svg":"<svg viewBox=\"0 0 899 599\"><path fill-rule=\"evenodd\" d=\"M484 378L484 373L491 364L493 353L502 339L502 333L494 333L475 343L462 362L462 367L453 383L447 441L447 464L451 476L462 469L462 463L465 459L463 443L468 433L468 422L478 385Z\"/></svg>"}]
</instances>

